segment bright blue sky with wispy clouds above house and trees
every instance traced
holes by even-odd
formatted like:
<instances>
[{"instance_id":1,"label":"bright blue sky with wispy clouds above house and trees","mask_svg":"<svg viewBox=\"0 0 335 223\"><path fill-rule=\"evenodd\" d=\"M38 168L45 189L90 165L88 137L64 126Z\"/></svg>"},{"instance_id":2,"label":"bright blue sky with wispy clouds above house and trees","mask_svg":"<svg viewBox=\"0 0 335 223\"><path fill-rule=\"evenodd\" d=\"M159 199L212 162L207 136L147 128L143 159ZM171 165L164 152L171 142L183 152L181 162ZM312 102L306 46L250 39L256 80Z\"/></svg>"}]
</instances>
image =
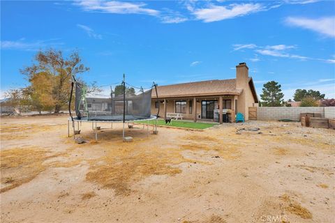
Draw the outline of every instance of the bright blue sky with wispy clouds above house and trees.
<instances>
[{"instance_id":1,"label":"bright blue sky with wispy clouds above house and trees","mask_svg":"<svg viewBox=\"0 0 335 223\"><path fill-rule=\"evenodd\" d=\"M335 1L1 1L1 95L38 49L77 49L87 82L151 86L235 77L335 98Z\"/></svg>"}]
</instances>

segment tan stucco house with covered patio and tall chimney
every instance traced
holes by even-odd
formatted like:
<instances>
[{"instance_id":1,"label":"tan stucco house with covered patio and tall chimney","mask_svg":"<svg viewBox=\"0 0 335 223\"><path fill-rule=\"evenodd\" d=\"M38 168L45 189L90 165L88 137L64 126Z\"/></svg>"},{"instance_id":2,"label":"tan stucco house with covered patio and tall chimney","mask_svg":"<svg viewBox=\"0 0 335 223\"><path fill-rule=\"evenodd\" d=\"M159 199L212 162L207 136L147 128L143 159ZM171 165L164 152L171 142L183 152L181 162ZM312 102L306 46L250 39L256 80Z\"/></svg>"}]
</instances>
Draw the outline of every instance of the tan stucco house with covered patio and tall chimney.
<instances>
[{"instance_id":1,"label":"tan stucco house with covered patio and tall chimney","mask_svg":"<svg viewBox=\"0 0 335 223\"><path fill-rule=\"evenodd\" d=\"M181 113L193 121L214 121L223 123L223 113L228 114L229 121L234 122L235 114L241 112L248 120L248 107L258 107L258 96L252 77L248 76L246 63L236 66L235 79L214 79L203 82L170 84L158 86L151 93L151 114L166 117L167 113ZM219 109L221 108L221 109Z\"/></svg>"}]
</instances>

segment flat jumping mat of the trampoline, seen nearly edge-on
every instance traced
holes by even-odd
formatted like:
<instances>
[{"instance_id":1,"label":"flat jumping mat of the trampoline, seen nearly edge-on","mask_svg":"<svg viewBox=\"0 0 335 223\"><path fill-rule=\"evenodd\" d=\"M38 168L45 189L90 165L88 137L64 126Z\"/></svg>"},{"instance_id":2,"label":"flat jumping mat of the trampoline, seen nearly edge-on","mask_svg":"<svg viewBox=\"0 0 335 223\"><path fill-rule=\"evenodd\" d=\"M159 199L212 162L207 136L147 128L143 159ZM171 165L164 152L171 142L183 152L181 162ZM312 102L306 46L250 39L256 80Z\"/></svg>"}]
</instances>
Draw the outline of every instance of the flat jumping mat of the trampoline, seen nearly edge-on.
<instances>
[{"instance_id":1,"label":"flat jumping mat of the trampoline, seen nearly edge-on","mask_svg":"<svg viewBox=\"0 0 335 223\"><path fill-rule=\"evenodd\" d=\"M129 115L125 116L125 121L140 121L140 120L147 120L147 119L155 119L156 116L136 116L136 115ZM74 118L75 120L80 121L115 121L121 122L124 121L123 115L103 115L103 116L84 116L79 118Z\"/></svg>"}]
</instances>

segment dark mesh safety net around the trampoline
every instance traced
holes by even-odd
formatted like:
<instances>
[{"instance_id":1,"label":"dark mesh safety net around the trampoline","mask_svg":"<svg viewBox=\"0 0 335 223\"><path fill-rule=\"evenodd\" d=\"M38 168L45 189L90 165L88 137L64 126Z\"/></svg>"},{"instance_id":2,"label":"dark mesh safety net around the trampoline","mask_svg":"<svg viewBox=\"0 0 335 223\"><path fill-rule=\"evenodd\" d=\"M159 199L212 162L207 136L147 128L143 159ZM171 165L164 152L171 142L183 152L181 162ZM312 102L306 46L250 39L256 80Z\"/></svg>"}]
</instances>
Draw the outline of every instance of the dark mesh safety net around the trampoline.
<instances>
[{"instance_id":1,"label":"dark mesh safety net around the trampoline","mask_svg":"<svg viewBox=\"0 0 335 223\"><path fill-rule=\"evenodd\" d=\"M117 94L112 87L107 91L87 93L87 86L75 82L77 118L87 121L135 121L150 118L152 89L140 89L137 93L126 91L127 89L123 85L121 93L118 91Z\"/></svg>"}]
</instances>

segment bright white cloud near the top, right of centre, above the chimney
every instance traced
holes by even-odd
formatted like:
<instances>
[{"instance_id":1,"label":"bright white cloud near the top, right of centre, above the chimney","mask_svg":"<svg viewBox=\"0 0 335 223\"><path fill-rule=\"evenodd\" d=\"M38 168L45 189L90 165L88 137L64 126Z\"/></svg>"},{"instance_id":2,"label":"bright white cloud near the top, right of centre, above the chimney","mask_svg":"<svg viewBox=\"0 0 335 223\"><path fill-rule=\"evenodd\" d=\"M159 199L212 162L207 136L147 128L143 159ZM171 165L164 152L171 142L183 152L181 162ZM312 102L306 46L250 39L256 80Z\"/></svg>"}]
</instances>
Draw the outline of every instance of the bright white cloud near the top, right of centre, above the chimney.
<instances>
[{"instance_id":1,"label":"bright white cloud near the top, right of centre, above the chimney","mask_svg":"<svg viewBox=\"0 0 335 223\"><path fill-rule=\"evenodd\" d=\"M264 10L260 3L236 3L230 4L229 6L210 5L209 8L190 9L198 20L203 20L204 22L228 20L233 17L244 16Z\"/></svg>"}]
</instances>

